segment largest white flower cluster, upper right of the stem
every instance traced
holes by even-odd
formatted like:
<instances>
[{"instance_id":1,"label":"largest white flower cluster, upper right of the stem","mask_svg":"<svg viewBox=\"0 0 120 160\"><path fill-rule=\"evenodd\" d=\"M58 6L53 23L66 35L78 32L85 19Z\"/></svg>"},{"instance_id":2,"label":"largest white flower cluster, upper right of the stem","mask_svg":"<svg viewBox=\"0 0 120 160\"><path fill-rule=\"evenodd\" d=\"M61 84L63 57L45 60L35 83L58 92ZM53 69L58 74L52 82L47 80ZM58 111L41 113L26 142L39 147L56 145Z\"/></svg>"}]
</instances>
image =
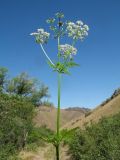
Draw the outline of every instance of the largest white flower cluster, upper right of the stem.
<instances>
[{"instance_id":1,"label":"largest white flower cluster, upper right of the stem","mask_svg":"<svg viewBox=\"0 0 120 160\"><path fill-rule=\"evenodd\" d=\"M82 21L68 22L66 30L68 37L72 37L74 40L83 40L88 35L89 27Z\"/></svg>"}]
</instances>

